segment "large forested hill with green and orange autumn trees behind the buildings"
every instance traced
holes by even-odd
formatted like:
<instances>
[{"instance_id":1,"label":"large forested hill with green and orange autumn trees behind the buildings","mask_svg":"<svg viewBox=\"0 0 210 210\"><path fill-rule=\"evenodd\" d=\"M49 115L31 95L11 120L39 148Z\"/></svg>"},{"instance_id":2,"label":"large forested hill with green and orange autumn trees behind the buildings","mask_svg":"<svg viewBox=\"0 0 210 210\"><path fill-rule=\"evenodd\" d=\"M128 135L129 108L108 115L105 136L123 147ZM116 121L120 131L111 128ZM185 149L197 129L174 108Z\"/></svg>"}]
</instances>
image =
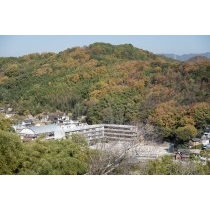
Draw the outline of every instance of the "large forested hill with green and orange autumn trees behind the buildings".
<instances>
[{"instance_id":1,"label":"large forested hill with green and orange autumn trees behind the buildings","mask_svg":"<svg viewBox=\"0 0 210 210\"><path fill-rule=\"evenodd\" d=\"M89 124L149 122L184 141L210 124L210 60L106 43L0 58L0 103L20 115L85 115Z\"/></svg>"}]
</instances>

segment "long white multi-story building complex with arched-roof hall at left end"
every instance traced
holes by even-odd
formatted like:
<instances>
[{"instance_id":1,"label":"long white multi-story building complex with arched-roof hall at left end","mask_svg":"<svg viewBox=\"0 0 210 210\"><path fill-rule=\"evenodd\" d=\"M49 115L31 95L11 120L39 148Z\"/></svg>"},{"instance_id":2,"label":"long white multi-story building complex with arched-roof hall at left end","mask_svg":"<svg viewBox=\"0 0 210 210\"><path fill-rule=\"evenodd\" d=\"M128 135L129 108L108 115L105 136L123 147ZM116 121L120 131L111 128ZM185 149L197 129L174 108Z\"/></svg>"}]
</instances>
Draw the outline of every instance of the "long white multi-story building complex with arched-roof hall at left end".
<instances>
[{"instance_id":1,"label":"long white multi-story building complex with arched-roof hall at left end","mask_svg":"<svg viewBox=\"0 0 210 210\"><path fill-rule=\"evenodd\" d=\"M62 139L75 133L82 134L88 141L99 139L129 141L138 137L136 126L116 124L50 124L23 128L19 132L22 139L35 139L41 134L45 135L45 139Z\"/></svg>"}]
</instances>

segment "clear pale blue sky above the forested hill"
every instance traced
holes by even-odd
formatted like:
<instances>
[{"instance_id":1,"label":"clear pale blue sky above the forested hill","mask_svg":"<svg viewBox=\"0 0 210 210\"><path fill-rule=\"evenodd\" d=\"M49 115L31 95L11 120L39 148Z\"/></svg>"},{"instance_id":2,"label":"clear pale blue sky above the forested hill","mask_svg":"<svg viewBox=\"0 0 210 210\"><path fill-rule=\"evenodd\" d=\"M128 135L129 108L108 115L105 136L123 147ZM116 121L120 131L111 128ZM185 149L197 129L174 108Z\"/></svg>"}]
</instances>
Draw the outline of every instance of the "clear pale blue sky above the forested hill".
<instances>
[{"instance_id":1,"label":"clear pale blue sky above the forested hill","mask_svg":"<svg viewBox=\"0 0 210 210\"><path fill-rule=\"evenodd\" d=\"M29 53L60 52L94 42L129 43L153 53L210 52L209 35L1 35L0 56L22 56Z\"/></svg>"}]
</instances>

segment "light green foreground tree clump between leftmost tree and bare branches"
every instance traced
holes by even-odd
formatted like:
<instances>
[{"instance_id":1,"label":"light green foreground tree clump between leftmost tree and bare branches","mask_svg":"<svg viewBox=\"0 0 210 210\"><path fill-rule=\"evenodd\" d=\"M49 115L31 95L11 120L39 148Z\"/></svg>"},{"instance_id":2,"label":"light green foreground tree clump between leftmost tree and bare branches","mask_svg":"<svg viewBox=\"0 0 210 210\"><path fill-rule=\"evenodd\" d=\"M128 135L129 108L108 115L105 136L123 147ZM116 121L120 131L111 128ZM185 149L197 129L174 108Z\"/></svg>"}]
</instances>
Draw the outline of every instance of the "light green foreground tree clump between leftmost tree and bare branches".
<instances>
[{"instance_id":1,"label":"light green foreground tree clump between leftmost tree and bare branches","mask_svg":"<svg viewBox=\"0 0 210 210\"><path fill-rule=\"evenodd\" d=\"M89 148L81 135L66 140L36 140L27 148L19 174L76 175L87 172Z\"/></svg>"}]
</instances>

